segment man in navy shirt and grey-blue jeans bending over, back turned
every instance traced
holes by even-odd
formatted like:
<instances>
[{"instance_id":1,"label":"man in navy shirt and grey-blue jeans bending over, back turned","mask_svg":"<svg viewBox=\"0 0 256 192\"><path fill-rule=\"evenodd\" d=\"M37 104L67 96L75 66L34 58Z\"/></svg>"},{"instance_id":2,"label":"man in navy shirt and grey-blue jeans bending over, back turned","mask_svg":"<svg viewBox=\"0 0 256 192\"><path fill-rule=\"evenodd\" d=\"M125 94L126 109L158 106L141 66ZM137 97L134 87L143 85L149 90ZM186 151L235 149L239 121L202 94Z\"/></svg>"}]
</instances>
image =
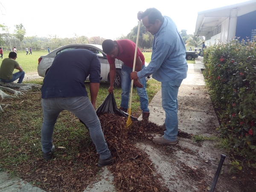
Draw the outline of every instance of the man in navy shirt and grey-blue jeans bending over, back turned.
<instances>
[{"instance_id":1,"label":"man in navy shirt and grey-blue jeans bending over, back turned","mask_svg":"<svg viewBox=\"0 0 256 192\"><path fill-rule=\"evenodd\" d=\"M67 110L81 119L89 129L90 137L99 154L98 166L106 166L113 162L95 111L100 66L97 55L86 49L71 49L56 55L41 88L44 113L41 144L44 160L50 160L55 151L55 146L52 145L54 125L60 112ZM91 102L84 86L89 74Z\"/></svg>"}]
</instances>

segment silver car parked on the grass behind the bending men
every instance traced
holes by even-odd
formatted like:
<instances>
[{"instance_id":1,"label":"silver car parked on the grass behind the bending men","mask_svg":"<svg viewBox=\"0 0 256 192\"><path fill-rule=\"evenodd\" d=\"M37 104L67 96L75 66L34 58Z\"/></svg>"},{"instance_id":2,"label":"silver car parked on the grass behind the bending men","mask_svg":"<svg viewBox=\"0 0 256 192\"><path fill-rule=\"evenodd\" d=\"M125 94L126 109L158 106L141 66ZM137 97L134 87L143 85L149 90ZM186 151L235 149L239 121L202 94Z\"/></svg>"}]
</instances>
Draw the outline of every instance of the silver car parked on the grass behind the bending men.
<instances>
[{"instance_id":1,"label":"silver car parked on the grass behind the bending men","mask_svg":"<svg viewBox=\"0 0 256 192\"><path fill-rule=\"evenodd\" d=\"M53 50L52 52L48 53L47 55L42 55L38 59L38 75L41 77L45 77L46 73L48 72L49 68L52 65L52 62L56 55L60 52L69 50L69 49L87 49L91 52L94 52L101 63L101 81L110 82L109 79L109 63L107 59L107 55L103 52L101 45L94 45L94 44L70 44L59 47L58 49ZM116 77L114 81L114 86L121 86L121 68L122 68L122 61L116 59ZM148 63L145 62L145 66L148 66ZM150 80L152 75L147 76L145 79L146 81ZM89 81L89 76L87 79Z\"/></svg>"}]
</instances>

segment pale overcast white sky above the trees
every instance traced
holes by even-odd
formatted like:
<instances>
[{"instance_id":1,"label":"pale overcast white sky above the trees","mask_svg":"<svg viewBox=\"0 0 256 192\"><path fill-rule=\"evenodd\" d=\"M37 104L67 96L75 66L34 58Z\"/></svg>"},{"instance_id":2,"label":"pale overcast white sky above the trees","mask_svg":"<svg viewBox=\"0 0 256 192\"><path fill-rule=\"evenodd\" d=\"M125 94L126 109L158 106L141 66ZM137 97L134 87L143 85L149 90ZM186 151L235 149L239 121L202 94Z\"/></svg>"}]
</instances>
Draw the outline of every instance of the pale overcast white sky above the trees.
<instances>
[{"instance_id":1,"label":"pale overcast white sky above the trees","mask_svg":"<svg viewBox=\"0 0 256 192\"><path fill-rule=\"evenodd\" d=\"M154 7L172 18L179 31L195 32L198 12L247 0L0 0L0 24L25 36L71 38L85 35L116 39L138 24L137 12Z\"/></svg>"}]
</instances>

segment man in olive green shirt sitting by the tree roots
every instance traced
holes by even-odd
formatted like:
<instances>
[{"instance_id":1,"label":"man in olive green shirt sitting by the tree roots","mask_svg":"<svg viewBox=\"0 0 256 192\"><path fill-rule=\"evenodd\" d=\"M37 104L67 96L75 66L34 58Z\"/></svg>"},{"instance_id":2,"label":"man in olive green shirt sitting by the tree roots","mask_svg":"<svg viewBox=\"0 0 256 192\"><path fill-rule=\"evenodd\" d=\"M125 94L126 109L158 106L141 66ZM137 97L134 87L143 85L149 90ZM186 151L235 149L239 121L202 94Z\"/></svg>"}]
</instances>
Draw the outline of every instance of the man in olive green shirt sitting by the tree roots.
<instances>
[{"instance_id":1,"label":"man in olive green shirt sitting by the tree roots","mask_svg":"<svg viewBox=\"0 0 256 192\"><path fill-rule=\"evenodd\" d=\"M10 52L9 58L5 58L2 61L1 67L0 67L0 81L3 81L5 83L11 83L17 79L18 83L22 83L25 72L23 71L22 67L18 64L15 59L17 58L16 52ZM19 70L17 73L13 73L14 69Z\"/></svg>"}]
</instances>

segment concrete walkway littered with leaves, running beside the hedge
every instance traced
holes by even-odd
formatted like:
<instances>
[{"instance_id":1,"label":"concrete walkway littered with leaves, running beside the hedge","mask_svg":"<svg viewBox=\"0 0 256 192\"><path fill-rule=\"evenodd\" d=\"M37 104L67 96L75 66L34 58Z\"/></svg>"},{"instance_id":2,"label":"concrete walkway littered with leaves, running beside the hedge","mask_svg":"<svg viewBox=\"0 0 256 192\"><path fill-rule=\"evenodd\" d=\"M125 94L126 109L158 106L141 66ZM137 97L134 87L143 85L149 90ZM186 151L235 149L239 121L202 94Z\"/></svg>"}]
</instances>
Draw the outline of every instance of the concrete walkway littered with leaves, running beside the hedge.
<instances>
[{"instance_id":1,"label":"concrete walkway littered with leaves, running beside the hedge","mask_svg":"<svg viewBox=\"0 0 256 192\"><path fill-rule=\"evenodd\" d=\"M201 69L204 68L202 63L202 57L195 60L195 64L188 64L188 74L187 78L183 80L178 94L179 100L179 129L189 134L201 134L204 136L210 136L215 133L215 128L219 126L217 116L212 107L209 94L205 90L204 76L202 75ZM165 111L161 105L161 90L154 96L150 102L148 108L150 109L149 120L161 125L165 120ZM142 119L142 116L138 118ZM157 135L154 135L157 137ZM215 166L217 166L216 159L220 157L221 152L216 151L215 148L210 143L206 143L201 147L189 143L189 140L178 138L181 148L188 148L189 150L195 151L196 155L185 153L185 157L182 157L184 151L180 150L174 146L176 153L173 153L171 157L165 157L158 148L152 146L147 146L145 143L138 143L139 148L145 148L146 152L149 154L150 159L157 166L157 172L160 172L163 176L163 182L170 189L170 191L196 191L197 186L193 180L184 180L183 176L180 175L182 170L180 170L180 164L186 163L190 167L201 167L201 169L207 170L207 174L214 176ZM218 158L216 158L218 157ZM172 161L170 161L172 159ZM195 161L196 160L196 161ZM176 163L179 162L179 163ZM203 162L203 164L201 163ZM211 162L211 163L204 163ZM176 164L175 164L176 163ZM172 170L172 172L166 172L166 170ZM208 176L207 175L207 176ZM181 178L179 180L179 178ZM220 179L219 179L220 180ZM114 192L113 186L113 176L107 168L102 169L102 177L95 182L92 182L84 192ZM194 184L195 183L195 184ZM226 189L230 186L229 183L225 183L225 186L221 189ZM230 191L236 192L236 185L233 186L234 189ZM229 188L232 189L233 187ZM43 192L43 190L33 187L29 183L23 180L9 179L8 175L4 172L0 173L0 191L1 192ZM220 190L225 191L225 190ZM227 190L226 190L227 191Z\"/></svg>"}]
</instances>

